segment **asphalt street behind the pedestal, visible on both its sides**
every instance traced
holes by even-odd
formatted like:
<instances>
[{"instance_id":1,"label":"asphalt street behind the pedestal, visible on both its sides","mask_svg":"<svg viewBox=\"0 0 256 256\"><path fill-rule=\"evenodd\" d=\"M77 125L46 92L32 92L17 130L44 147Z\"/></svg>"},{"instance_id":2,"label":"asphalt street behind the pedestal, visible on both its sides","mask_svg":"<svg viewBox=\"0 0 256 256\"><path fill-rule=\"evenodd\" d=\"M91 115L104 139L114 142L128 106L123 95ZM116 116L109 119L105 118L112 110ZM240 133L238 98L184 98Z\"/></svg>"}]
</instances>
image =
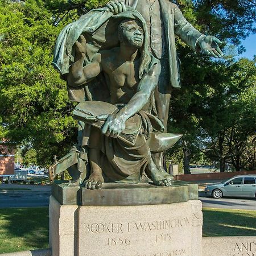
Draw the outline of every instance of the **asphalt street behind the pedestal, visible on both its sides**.
<instances>
[{"instance_id":1,"label":"asphalt street behind the pedestal, visible on both its sides","mask_svg":"<svg viewBox=\"0 0 256 256\"><path fill-rule=\"evenodd\" d=\"M12 207L47 207L49 205L49 196L51 191L1 191L0 208ZM256 200L247 198L230 198L213 199L199 192L199 199L203 202L203 207L208 208L226 208L226 209L244 209L256 210Z\"/></svg>"}]
</instances>

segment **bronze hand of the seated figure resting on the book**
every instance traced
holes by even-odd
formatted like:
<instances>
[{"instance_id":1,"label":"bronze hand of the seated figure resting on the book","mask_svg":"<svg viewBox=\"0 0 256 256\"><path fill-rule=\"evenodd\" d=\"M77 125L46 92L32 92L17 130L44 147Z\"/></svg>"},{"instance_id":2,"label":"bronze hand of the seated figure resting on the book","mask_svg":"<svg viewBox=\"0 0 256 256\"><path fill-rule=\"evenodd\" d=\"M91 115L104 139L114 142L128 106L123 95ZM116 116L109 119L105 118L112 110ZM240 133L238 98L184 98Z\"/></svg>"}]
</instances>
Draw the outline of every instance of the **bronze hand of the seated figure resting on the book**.
<instances>
[{"instance_id":1,"label":"bronze hand of the seated figure resting on the book","mask_svg":"<svg viewBox=\"0 0 256 256\"><path fill-rule=\"evenodd\" d=\"M99 115L98 120L106 119L104 125L101 128L101 132L106 135L106 137L117 138L119 134L125 129L126 119L120 114L109 114L109 115Z\"/></svg>"}]
</instances>

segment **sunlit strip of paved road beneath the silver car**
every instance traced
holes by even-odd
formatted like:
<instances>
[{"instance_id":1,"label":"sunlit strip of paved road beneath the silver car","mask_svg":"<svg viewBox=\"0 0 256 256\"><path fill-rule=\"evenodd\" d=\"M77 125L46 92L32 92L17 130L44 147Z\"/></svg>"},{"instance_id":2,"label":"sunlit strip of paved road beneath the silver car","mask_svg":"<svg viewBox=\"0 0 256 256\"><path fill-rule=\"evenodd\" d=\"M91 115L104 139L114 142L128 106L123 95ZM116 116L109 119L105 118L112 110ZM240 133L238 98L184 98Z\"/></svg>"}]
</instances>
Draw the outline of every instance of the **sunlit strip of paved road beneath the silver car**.
<instances>
[{"instance_id":1,"label":"sunlit strip of paved road beneath the silver car","mask_svg":"<svg viewBox=\"0 0 256 256\"><path fill-rule=\"evenodd\" d=\"M214 199L206 196L204 192L199 192L199 199L202 201L203 207L256 210L256 199L253 198L222 197Z\"/></svg>"}]
</instances>

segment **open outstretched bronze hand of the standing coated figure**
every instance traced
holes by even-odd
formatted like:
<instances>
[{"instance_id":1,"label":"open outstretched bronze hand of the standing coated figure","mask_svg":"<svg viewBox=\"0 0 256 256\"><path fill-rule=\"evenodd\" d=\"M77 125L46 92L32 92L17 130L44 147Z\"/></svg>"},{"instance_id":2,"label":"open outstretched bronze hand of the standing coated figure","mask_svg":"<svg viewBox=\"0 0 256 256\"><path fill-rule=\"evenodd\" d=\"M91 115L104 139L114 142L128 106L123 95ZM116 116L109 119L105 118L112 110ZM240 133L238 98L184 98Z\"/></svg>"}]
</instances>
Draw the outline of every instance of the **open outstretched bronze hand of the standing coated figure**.
<instances>
[{"instance_id":1,"label":"open outstretched bronze hand of the standing coated figure","mask_svg":"<svg viewBox=\"0 0 256 256\"><path fill-rule=\"evenodd\" d=\"M215 36L205 36L201 40L199 40L199 46L201 50L206 53L209 56L213 57L219 57L221 58L223 56L223 53L218 47L218 44L221 44L222 42L218 40Z\"/></svg>"}]
</instances>

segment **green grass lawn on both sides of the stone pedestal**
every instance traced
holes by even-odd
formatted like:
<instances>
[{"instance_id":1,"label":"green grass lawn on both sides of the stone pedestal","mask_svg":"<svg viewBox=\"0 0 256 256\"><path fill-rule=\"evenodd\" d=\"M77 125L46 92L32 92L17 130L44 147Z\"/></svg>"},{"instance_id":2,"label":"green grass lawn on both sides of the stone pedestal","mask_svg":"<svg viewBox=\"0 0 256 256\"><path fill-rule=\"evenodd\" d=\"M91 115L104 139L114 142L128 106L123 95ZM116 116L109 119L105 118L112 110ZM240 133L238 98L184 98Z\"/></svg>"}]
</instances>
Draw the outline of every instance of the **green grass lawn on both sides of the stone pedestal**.
<instances>
[{"instance_id":1,"label":"green grass lawn on both sides of the stone pedestal","mask_svg":"<svg viewBox=\"0 0 256 256\"><path fill-rule=\"evenodd\" d=\"M256 211L203 209L203 236L255 236ZM44 249L48 245L48 208L0 209L0 253Z\"/></svg>"}]
</instances>

